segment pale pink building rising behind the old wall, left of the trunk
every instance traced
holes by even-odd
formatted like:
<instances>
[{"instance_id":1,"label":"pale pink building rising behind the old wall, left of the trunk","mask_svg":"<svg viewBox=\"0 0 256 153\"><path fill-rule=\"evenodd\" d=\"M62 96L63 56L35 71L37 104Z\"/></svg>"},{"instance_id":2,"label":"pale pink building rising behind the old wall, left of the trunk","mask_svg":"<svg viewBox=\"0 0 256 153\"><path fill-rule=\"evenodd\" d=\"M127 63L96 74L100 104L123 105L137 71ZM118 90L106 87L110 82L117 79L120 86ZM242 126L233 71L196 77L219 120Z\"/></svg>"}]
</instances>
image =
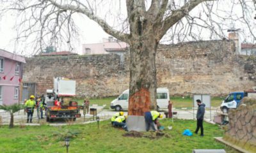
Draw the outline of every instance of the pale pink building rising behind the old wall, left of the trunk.
<instances>
[{"instance_id":1,"label":"pale pink building rising behind the old wall, left of the trunk","mask_svg":"<svg viewBox=\"0 0 256 153\"><path fill-rule=\"evenodd\" d=\"M108 39L103 38L102 40L102 43L83 44L83 54L91 55L115 53L122 55L129 48L129 45L127 43L118 41L113 37L109 37Z\"/></svg>"}]
</instances>

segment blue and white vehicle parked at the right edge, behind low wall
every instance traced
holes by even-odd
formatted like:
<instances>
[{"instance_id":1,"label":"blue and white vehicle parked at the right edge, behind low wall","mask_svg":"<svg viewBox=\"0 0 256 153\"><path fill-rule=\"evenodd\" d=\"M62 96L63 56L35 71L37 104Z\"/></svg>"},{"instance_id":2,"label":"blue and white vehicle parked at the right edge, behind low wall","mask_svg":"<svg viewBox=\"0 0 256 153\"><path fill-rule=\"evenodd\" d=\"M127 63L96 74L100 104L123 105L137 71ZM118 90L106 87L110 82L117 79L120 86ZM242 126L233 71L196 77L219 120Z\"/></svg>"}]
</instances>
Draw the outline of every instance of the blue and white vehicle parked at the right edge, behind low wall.
<instances>
[{"instance_id":1,"label":"blue and white vehicle parked at the right edge, behind low wall","mask_svg":"<svg viewBox=\"0 0 256 153\"><path fill-rule=\"evenodd\" d=\"M225 98L221 103L221 111L223 113L228 113L228 110L230 108L236 109L240 105L241 100L244 97L256 98L256 91L254 89L255 88L253 88L253 90L250 91L230 92L227 98Z\"/></svg>"}]
</instances>

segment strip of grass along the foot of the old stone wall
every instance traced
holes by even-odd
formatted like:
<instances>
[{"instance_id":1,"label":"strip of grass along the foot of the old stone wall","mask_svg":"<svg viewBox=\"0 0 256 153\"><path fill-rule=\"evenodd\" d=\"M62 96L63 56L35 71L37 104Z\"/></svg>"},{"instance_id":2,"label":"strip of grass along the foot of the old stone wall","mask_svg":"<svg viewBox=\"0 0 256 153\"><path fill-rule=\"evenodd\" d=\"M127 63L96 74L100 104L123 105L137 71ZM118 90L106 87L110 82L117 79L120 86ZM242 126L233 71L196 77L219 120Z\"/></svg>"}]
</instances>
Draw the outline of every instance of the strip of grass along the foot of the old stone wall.
<instances>
[{"instance_id":1,"label":"strip of grass along the foot of the old stone wall","mask_svg":"<svg viewBox=\"0 0 256 153\"><path fill-rule=\"evenodd\" d=\"M93 98L93 99L90 99L90 105L93 105L93 104L106 105L105 109L109 109L111 101L113 101L113 99L115 98L117 98L117 96L108 97L108 98ZM171 96L170 99L173 102L173 107L175 108L193 107L193 103L192 103L193 98L189 98L189 97L182 98L179 96L175 96L175 97ZM84 99L74 99L74 100L76 100L79 103L79 105L83 105ZM220 106L222 101L223 101L223 98L212 97L211 105L214 107Z\"/></svg>"}]
</instances>

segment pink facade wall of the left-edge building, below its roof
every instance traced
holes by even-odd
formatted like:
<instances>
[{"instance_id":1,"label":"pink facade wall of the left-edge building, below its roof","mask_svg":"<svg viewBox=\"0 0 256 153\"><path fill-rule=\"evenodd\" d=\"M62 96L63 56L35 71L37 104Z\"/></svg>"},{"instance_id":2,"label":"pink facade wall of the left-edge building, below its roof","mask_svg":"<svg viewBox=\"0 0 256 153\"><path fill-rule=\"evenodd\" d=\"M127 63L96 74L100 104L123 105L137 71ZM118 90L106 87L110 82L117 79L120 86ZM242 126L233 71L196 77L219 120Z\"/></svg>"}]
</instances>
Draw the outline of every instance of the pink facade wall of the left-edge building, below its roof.
<instances>
[{"instance_id":1,"label":"pink facade wall of the left-edge building, below its roof","mask_svg":"<svg viewBox=\"0 0 256 153\"><path fill-rule=\"evenodd\" d=\"M15 87L20 86L19 78L22 74L22 66L20 65L20 75L15 75L15 68L16 68L17 61L13 61L11 59L4 58L4 71L3 73L0 73L0 85L2 86L2 92L3 92L3 104L4 105L10 105L13 103L19 102L19 95L18 98L14 98L14 92ZM20 62L19 62L20 64ZM6 79L4 80L3 77L6 76ZM12 78L10 80L10 78Z\"/></svg>"}]
</instances>

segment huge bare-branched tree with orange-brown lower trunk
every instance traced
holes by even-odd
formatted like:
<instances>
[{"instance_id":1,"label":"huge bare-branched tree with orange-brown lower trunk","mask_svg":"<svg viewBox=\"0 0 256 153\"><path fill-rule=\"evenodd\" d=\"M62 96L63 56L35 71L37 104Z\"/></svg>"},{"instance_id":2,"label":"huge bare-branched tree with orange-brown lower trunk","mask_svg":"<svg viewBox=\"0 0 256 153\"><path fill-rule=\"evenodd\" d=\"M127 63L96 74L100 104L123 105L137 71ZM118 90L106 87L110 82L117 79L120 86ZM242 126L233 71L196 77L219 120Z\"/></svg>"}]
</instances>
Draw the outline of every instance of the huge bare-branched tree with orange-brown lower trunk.
<instances>
[{"instance_id":1,"label":"huge bare-branched tree with orange-brown lower trunk","mask_svg":"<svg viewBox=\"0 0 256 153\"><path fill-rule=\"evenodd\" d=\"M27 38L29 34L37 34L34 37L39 43L36 46L40 48L44 46L45 40L52 42L60 38L70 45L72 36L77 34L76 21L72 18L77 14L90 18L106 33L129 43L129 115L143 115L157 107L155 61L160 40L170 38L175 43L223 38L223 29L228 29L224 22L237 20L255 38L255 28L252 26L255 0L227 0L225 3L214 0L126 0L126 11L120 11L125 8L122 5L124 1L118 1L120 9L111 8L110 13L107 13L110 17L107 17L104 13L108 11L102 10L106 10L106 6L111 4L118 6L113 3L114 1L102 0L12 0L4 3L4 10L20 12L21 24L24 26L19 30L18 36ZM99 11L103 13L100 14ZM121 18L123 24L116 24L115 28L109 24L112 20L115 25L111 16L113 12L124 12L116 14L115 20Z\"/></svg>"}]
</instances>

